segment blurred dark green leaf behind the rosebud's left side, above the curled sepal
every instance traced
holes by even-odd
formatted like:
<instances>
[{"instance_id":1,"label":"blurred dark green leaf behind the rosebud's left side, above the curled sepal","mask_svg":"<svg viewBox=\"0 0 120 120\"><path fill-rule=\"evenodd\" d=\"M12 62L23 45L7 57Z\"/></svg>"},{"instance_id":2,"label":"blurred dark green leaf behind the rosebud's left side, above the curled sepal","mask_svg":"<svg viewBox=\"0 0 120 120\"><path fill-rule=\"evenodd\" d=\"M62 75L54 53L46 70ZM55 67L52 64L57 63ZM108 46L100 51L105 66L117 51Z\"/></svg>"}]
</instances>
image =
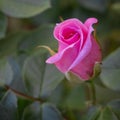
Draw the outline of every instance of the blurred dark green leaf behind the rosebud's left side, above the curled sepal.
<instances>
[{"instance_id":1,"label":"blurred dark green leaf behind the rosebud's left side, above the curled sepal","mask_svg":"<svg viewBox=\"0 0 120 120\"><path fill-rule=\"evenodd\" d=\"M57 40L53 37L52 25L41 25L39 28L28 32L19 42L18 49L19 51L30 53L33 50L39 50L39 46L49 46L54 49L57 48Z\"/></svg>"}]
</instances>

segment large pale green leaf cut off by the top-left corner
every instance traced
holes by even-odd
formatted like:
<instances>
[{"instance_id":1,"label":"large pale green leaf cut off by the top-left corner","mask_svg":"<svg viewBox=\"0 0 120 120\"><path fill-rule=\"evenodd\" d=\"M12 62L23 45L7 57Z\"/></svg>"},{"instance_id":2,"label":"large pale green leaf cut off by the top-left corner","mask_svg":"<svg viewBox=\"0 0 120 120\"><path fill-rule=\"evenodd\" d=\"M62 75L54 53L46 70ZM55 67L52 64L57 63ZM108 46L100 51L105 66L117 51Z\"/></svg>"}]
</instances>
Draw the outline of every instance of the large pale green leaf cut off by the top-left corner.
<instances>
[{"instance_id":1,"label":"large pale green leaf cut off by the top-left corner","mask_svg":"<svg viewBox=\"0 0 120 120\"><path fill-rule=\"evenodd\" d=\"M1 0L0 9L13 17L25 18L50 7L50 0Z\"/></svg>"}]
</instances>

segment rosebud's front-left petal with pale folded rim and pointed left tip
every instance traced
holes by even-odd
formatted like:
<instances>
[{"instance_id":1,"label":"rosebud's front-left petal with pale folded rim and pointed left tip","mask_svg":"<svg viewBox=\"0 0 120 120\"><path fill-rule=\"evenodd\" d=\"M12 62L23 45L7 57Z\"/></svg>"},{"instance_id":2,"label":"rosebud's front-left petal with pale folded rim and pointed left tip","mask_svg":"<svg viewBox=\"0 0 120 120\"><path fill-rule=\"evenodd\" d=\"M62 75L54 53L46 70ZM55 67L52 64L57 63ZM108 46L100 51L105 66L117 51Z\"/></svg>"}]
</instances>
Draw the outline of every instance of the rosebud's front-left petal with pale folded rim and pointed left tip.
<instances>
[{"instance_id":1,"label":"rosebud's front-left petal with pale folded rim and pointed left tip","mask_svg":"<svg viewBox=\"0 0 120 120\"><path fill-rule=\"evenodd\" d=\"M62 52L59 52L50 57L46 61L46 63L54 63L61 72L67 72L68 68L73 63L78 54L79 46L79 42L72 44L71 46L64 49Z\"/></svg>"}]
</instances>

